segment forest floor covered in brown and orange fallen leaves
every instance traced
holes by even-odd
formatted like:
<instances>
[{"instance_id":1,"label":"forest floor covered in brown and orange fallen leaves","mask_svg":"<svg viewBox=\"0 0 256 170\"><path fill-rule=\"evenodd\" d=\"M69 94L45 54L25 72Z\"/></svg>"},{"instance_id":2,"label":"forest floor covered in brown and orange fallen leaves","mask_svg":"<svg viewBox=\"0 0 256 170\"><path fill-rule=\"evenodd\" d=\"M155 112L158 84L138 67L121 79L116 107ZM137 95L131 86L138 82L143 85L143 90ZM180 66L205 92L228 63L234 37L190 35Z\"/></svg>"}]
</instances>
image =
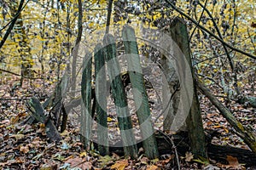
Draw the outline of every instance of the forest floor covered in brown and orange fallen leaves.
<instances>
[{"instance_id":1,"label":"forest floor covered in brown and orange fallen leaves","mask_svg":"<svg viewBox=\"0 0 256 170\"><path fill-rule=\"evenodd\" d=\"M61 143L49 143L44 124L20 125L20 122L29 116L26 100L32 96L38 99L44 98L45 95L49 96L54 83L44 84L47 88L42 88L41 81L34 81L32 84L25 82L20 88L15 86L17 82L19 82L17 77L4 78L0 82L0 169L154 170L172 169L174 164L177 166L175 155L172 153L155 160L148 160L146 156L140 154L137 160L131 160L115 153L111 156L100 156L96 150L85 151L79 139L79 126L75 121L79 116L75 114L69 117L67 130L61 133L63 139ZM155 98L152 95L152 99ZM219 115L216 108L202 94L200 101L204 128L214 129L220 133L218 138L212 139L212 143L248 149L224 117ZM243 125L256 129L255 108L238 105L232 101L225 104ZM113 123L113 126L116 125L114 117L110 117L108 122ZM240 164L236 157L232 156L227 157L228 164L210 160L210 164L204 165L195 160L189 150L185 156L179 156L178 160L181 169L246 169L245 165Z\"/></svg>"}]
</instances>

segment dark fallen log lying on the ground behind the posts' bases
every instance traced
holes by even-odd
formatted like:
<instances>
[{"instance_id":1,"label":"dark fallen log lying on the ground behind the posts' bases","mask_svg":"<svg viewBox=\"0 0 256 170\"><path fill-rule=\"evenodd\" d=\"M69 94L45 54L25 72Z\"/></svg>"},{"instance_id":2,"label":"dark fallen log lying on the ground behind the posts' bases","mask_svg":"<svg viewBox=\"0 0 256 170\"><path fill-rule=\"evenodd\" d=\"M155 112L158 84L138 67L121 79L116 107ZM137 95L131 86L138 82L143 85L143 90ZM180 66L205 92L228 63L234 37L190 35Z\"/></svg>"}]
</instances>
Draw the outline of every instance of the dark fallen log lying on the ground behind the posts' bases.
<instances>
[{"instance_id":1,"label":"dark fallen log lying on the ground behind the posts' bases","mask_svg":"<svg viewBox=\"0 0 256 170\"><path fill-rule=\"evenodd\" d=\"M208 138L206 136L206 138ZM175 146L172 146L172 142L168 141L173 139ZM185 156L185 153L189 151L189 140L187 133L176 134L172 136L166 136L156 134L156 141L158 144L158 150L161 155L174 154L174 148L176 148L179 156ZM116 145L120 145L119 141ZM97 144L94 144L97 147ZM137 144L137 148L143 146L142 142ZM109 151L120 156L124 155L124 150L122 147L115 147L115 144L112 147L109 147ZM256 166L256 154L251 150L245 150L241 148L224 146L218 144L207 144L207 154L210 160L217 161L222 164L229 164L227 161L227 156L236 157L240 164L244 164L245 167Z\"/></svg>"}]
</instances>

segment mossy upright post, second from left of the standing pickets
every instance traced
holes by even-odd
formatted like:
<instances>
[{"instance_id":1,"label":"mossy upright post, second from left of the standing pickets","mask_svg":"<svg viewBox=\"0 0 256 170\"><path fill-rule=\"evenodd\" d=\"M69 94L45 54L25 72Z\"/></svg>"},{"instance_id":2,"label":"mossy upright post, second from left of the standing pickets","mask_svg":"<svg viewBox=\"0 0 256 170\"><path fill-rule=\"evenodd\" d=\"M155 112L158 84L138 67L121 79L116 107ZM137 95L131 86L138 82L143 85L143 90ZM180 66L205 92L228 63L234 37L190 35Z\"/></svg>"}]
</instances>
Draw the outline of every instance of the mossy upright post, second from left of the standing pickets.
<instances>
[{"instance_id":1,"label":"mossy upright post, second from left of the standing pickets","mask_svg":"<svg viewBox=\"0 0 256 170\"><path fill-rule=\"evenodd\" d=\"M107 83L106 67L102 44L98 43L94 49L96 75L96 119L98 150L102 156L108 155L108 116L107 116ZM101 71L103 70L103 71ZM101 72L100 72L101 71ZM100 73L99 73L100 72Z\"/></svg>"}]
</instances>

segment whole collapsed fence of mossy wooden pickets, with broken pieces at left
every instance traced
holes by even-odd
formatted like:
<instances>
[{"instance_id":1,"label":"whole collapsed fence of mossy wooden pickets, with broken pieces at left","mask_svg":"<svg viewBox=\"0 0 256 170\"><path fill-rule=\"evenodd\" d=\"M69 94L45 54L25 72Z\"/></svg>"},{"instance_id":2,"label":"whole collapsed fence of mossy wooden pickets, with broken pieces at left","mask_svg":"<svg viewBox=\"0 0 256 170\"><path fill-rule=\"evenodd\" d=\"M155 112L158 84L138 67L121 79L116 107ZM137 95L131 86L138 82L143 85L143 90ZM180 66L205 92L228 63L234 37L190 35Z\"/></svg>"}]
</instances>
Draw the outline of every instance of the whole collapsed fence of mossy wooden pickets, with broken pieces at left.
<instances>
[{"instance_id":1,"label":"whole collapsed fence of mossy wooden pickets, with broken pieces at left","mask_svg":"<svg viewBox=\"0 0 256 170\"><path fill-rule=\"evenodd\" d=\"M173 65L173 62L170 62L170 59L168 60L165 57L169 55L171 48L174 48L174 50L171 51L173 51L172 55L174 55L172 57L174 59L174 68L177 72L178 80L174 81L174 85L173 82L166 80L166 91L163 93L165 94L169 90L172 91L171 88L176 87L178 82L179 88L172 92L176 93L176 91L178 91L177 93L179 93L179 95L166 97L166 102L163 103L170 106L170 99L172 99L172 106L174 106L173 108L177 108L177 111L179 111L180 114L177 114L176 111L176 113L172 115L172 112L170 112L168 108L164 109L166 110L163 111L165 115L164 128L166 127L167 130L174 129L177 131L180 127L183 127L183 125L187 126L187 130L189 131L189 147L191 151L195 154L195 156L207 157L205 135L201 121L201 111L196 95L196 77L191 74L194 71L192 71L190 59L187 27L183 20L176 18L172 21L172 25L167 29L166 32L166 34L172 37L173 42L171 43L172 47L168 46L168 39L166 39L168 41L165 41L164 38L160 43L160 51L163 53L161 66L162 69L164 69L163 73L166 75L166 77L172 77L172 71L170 71L170 67L168 65ZM154 159L155 157L159 156L159 150L156 144L153 128L154 124L151 120L150 109L148 106L148 96L145 89L145 80L143 78L142 65L137 48L137 38L131 26L124 26L122 31L122 43L124 44L125 54L128 54L128 57L126 57L128 71L125 76L129 77L129 83L131 83L133 88L132 94L135 101L135 106L137 107L137 119L143 136L143 148L146 156L148 156L150 159ZM163 49L166 49L167 52ZM61 82L59 82L56 86L54 94L52 94L43 105L41 105L40 102L34 98L28 102L28 108L32 112L32 116L29 117L26 122L37 121L44 123L46 127L46 134L49 139L52 141L60 141L61 135L58 133L58 128L61 126L61 132L63 132L66 128L68 113L72 110L72 108L81 105L82 114L80 116L80 131L81 140L84 147L90 150L90 140L92 139L93 128L92 125L93 122L95 122L96 115L96 141L98 143L97 150L99 150L100 154L102 155L108 155L109 141L106 96L110 86L118 115L118 126L121 133L125 156L136 158L138 153L137 140L132 131L133 125L131 122L131 115L127 110L128 104L125 95L124 81L122 79L122 75L120 75L119 61L117 59L116 51L117 48L114 37L111 34L105 35L103 41L96 44L94 53L85 54L81 80L82 97L72 99L67 105L64 106L63 101L67 96L69 87L68 84L71 83L68 81L68 74L65 73L61 78ZM180 51L182 52L183 57L178 54ZM109 78L107 78L107 73ZM245 143L250 147L250 149L255 152L256 140L253 132L247 127L242 126L240 122L237 122L236 118L232 116L230 111L227 110L224 105L218 101L218 99L212 96L212 94L207 91L207 88L201 85L199 81L196 82L201 91L212 101L212 104L216 105L227 121L230 122L233 127L235 127L236 132L239 134L241 139L244 139ZM94 87L93 84L95 84ZM176 102L178 100L179 104L177 105ZM46 107L53 108L53 117L45 115L44 110ZM183 113L187 113L187 115ZM171 126L169 126L170 124ZM209 145L208 148L208 151L211 150ZM211 153L209 152L209 154L212 154L213 152L214 150L211 150ZM234 154L236 154L236 152L234 152ZM253 154L248 153L248 156L251 155ZM243 158L241 157L241 161L244 161L242 159ZM251 160L253 162L253 160L255 160L255 156L252 157Z\"/></svg>"}]
</instances>

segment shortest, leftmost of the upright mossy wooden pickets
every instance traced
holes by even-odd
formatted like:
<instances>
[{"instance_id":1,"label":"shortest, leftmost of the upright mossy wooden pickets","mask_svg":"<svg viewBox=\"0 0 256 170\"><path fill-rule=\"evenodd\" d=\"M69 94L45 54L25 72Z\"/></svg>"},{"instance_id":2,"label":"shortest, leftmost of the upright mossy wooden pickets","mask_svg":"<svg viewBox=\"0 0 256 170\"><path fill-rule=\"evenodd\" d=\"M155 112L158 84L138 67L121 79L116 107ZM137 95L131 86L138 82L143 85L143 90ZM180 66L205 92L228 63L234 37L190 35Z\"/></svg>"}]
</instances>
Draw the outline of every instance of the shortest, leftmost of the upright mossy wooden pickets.
<instances>
[{"instance_id":1,"label":"shortest, leftmost of the upright mossy wooden pickets","mask_svg":"<svg viewBox=\"0 0 256 170\"><path fill-rule=\"evenodd\" d=\"M90 135L91 135L91 54L86 54L84 57L84 70L81 82L81 141L84 148L90 149Z\"/></svg>"}]
</instances>

